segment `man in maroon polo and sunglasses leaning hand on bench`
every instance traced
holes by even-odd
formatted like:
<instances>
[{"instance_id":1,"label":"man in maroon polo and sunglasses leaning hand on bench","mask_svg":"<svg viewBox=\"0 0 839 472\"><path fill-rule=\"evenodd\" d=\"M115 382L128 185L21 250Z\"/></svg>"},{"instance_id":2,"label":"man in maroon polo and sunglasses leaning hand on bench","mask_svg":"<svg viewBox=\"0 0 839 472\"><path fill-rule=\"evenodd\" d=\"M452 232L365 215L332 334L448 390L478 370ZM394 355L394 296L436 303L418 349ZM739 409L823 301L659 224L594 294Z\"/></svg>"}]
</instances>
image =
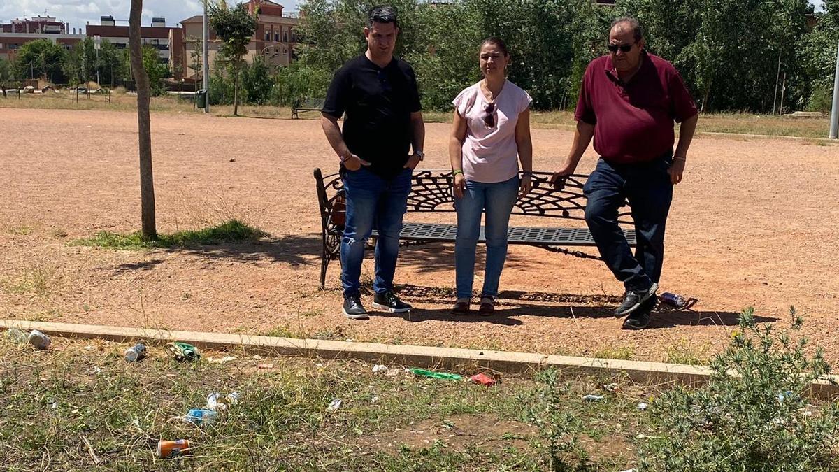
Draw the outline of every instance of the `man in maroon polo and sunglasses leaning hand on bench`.
<instances>
[{"instance_id":1,"label":"man in maroon polo and sunglasses leaning hand on bench","mask_svg":"<svg viewBox=\"0 0 839 472\"><path fill-rule=\"evenodd\" d=\"M592 60L582 78L571 152L553 181L574 172L593 136L601 158L583 188L586 223L604 262L626 288L615 314L628 315L623 328L641 329L657 301L664 224L698 116L679 72L644 50L638 20L616 20L607 48L610 54ZM675 152L674 121L681 123ZM624 202L632 208L635 254L618 226Z\"/></svg>"}]
</instances>

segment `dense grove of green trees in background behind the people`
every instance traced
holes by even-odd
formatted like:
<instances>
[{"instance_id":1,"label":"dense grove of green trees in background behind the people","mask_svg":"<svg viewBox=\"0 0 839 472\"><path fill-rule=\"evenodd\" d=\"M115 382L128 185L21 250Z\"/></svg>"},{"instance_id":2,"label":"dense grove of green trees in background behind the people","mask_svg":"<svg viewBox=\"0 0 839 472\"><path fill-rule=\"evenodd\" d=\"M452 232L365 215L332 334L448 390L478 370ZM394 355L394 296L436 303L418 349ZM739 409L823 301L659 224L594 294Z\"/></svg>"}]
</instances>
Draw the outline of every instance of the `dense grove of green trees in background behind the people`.
<instances>
[{"instance_id":1,"label":"dense grove of green trees in background behind the people","mask_svg":"<svg viewBox=\"0 0 839 472\"><path fill-rule=\"evenodd\" d=\"M238 96L237 102L288 105L323 97L334 71L364 51L367 10L385 3L399 11L396 54L414 66L425 109L450 109L452 97L479 79L477 47L489 36L507 41L510 80L530 93L535 108L571 108L586 65L606 53L609 24L633 16L644 25L648 50L674 63L705 112L771 113L782 96L785 111L828 111L839 0L822 2L808 29L814 8L807 0L617 0L614 7L591 0L305 0L290 66L259 57L244 63L241 48L226 47L213 65L210 101L232 104ZM224 13L239 14L245 29L253 26L237 7ZM45 40L27 43L13 64L0 60L0 81L84 80L96 76L97 65L103 83L130 77L127 51L103 41L98 63L91 52L90 39L71 51ZM190 57L201 61L195 51ZM154 50L143 58L154 93L169 71Z\"/></svg>"}]
</instances>

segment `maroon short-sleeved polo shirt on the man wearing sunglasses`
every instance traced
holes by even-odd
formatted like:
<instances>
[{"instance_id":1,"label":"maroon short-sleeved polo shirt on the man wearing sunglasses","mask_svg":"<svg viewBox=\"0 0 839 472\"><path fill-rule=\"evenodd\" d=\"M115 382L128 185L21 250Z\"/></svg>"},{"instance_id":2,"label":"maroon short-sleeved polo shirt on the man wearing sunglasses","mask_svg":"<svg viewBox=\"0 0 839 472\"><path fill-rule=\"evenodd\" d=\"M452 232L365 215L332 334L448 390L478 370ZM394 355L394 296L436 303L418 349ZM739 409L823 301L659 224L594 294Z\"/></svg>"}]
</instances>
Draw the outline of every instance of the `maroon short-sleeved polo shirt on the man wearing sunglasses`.
<instances>
[{"instance_id":1,"label":"maroon short-sleeved polo shirt on the man wearing sunglasses","mask_svg":"<svg viewBox=\"0 0 839 472\"><path fill-rule=\"evenodd\" d=\"M608 55L592 60L582 77L574 119L595 125L594 150L610 162L647 162L672 151L673 121L696 114L675 67L642 54L641 68L627 83L618 79Z\"/></svg>"}]
</instances>

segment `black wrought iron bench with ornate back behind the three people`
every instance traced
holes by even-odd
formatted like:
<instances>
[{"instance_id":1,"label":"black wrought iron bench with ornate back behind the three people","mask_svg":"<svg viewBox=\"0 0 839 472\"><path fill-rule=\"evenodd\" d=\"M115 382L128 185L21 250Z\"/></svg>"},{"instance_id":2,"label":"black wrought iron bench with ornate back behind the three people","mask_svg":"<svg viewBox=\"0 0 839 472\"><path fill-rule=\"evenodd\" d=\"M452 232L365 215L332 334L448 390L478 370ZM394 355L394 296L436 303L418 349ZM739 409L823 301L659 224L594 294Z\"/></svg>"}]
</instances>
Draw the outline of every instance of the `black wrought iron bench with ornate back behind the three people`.
<instances>
[{"instance_id":1,"label":"black wrought iron bench with ornate back behind the three people","mask_svg":"<svg viewBox=\"0 0 839 472\"><path fill-rule=\"evenodd\" d=\"M556 190L550 185L548 172L533 173L533 190L519 198L513 207L513 215L538 218L564 218L585 220L586 197L582 186L588 176L573 175L565 178L564 185ZM341 260L341 234L344 229L344 191L341 176L331 174L323 176L320 169L315 169L320 223L323 244L320 253L320 288L326 285L326 268L331 260ZM408 197L408 212L455 212L451 196L451 170L414 170L413 186ZM635 246L635 230L628 219L628 207L618 213L618 223L623 225L623 234L629 245ZM448 218L454 221L456 217ZM407 244L427 244L434 242L453 242L457 234L455 223L416 223L406 216L399 239ZM556 226L508 228L509 244L524 244L547 249L553 252L570 254L588 259L600 259L570 247L593 247L594 239L588 228L582 224L576 228ZM376 237L373 232L372 239ZM479 241L486 242L483 228ZM454 267L454 261L452 261Z\"/></svg>"}]
</instances>

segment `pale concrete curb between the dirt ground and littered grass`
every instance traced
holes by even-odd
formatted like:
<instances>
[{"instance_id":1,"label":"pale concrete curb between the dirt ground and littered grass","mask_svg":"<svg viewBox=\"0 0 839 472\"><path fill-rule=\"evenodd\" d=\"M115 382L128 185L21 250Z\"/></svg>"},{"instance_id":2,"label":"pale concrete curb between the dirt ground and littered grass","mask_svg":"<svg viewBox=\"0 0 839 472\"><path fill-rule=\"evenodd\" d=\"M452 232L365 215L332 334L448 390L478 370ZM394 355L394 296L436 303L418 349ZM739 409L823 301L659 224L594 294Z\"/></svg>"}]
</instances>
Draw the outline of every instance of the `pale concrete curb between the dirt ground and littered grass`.
<instances>
[{"instance_id":1,"label":"pale concrete curb between the dirt ground and littered grass","mask_svg":"<svg viewBox=\"0 0 839 472\"><path fill-rule=\"evenodd\" d=\"M612 376L623 374L635 382L648 385L667 382L682 382L688 385L701 384L706 382L711 375L711 370L705 367L638 360L0 320L0 328L13 327L23 330L37 329L42 333L65 338L101 338L117 342L145 340L149 344L184 341L201 349L221 351L236 349L243 350L248 354L321 359L358 359L381 364L401 364L446 370L465 370L467 372L478 368L486 368L499 372L520 373L555 367L563 370L565 375ZM813 396L819 398L833 398L839 395L839 387L826 381L817 382L813 385L812 393Z\"/></svg>"}]
</instances>

